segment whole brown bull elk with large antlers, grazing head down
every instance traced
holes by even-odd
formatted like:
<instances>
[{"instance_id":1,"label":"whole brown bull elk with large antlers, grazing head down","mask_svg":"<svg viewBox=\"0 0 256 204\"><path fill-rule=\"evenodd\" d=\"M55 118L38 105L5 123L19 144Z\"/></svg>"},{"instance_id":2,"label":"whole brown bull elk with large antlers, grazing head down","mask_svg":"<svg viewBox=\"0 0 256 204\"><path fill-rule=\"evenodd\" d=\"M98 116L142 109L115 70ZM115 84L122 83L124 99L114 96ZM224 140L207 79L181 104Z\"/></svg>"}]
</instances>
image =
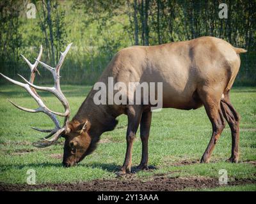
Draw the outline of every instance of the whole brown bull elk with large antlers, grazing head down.
<instances>
[{"instance_id":1,"label":"whole brown bull elk with large antlers, grazing head down","mask_svg":"<svg viewBox=\"0 0 256 204\"><path fill-rule=\"evenodd\" d=\"M67 55L70 45L61 53L56 68L40 62L42 46L35 64L22 57L31 69L30 80L21 77L26 83L20 83L1 74L4 78L26 89L36 100L39 107L35 110L17 108L26 112L43 112L55 124L54 129L38 129L49 133L42 140L34 143L36 147L48 147L61 136L65 138L63 166L74 166L95 149L100 135L111 131L117 124L116 117L126 114L128 127L126 133L127 150L124 165L118 172L122 175L131 171L132 143L140 124L142 157L138 170L148 169L148 136L152 112L150 105L95 105L93 96L97 91L92 89L70 121L70 107L60 89L60 68ZM163 108L182 110L196 109L204 105L212 124L212 136L201 162L208 163L212 150L225 127L225 120L232 131L232 151L230 162L237 163L239 158L239 115L230 103L230 89L239 71L239 54L246 52L243 48L232 47L224 40L213 37L201 37L190 41L167 43L157 46L134 46L118 52L104 70L99 82L108 85L108 78L113 77L114 83L124 82L163 82ZM38 66L42 64L51 71L54 87L40 87L33 84ZM64 113L54 112L44 105L36 90L54 94L65 107ZM131 93L126 93L131 96ZM133 95L134 93L132 93ZM63 127L56 115L65 117Z\"/></svg>"}]
</instances>

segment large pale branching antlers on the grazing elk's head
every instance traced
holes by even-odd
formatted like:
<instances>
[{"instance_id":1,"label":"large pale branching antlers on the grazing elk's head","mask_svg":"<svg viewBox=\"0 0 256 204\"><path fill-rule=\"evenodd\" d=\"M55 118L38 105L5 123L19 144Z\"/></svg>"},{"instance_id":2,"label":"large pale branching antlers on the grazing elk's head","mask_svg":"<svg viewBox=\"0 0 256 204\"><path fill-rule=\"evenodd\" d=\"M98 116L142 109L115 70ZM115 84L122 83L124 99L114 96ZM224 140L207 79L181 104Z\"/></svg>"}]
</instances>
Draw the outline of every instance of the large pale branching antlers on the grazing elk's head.
<instances>
[{"instance_id":1,"label":"large pale branching antlers on the grazing elk's head","mask_svg":"<svg viewBox=\"0 0 256 204\"><path fill-rule=\"evenodd\" d=\"M67 133L69 131L67 125L68 125L68 119L70 117L70 106L69 106L68 101L65 98L63 92L60 89L60 68L61 68L61 65L63 64L65 56L67 55L67 52L70 49L71 45L72 45L72 43L70 43L67 46L65 52L61 52L60 61L58 62L56 68L52 68L51 66L48 66L44 62L40 62L40 59L42 57L42 50L43 50L42 45L40 46L40 52L39 52L37 59L35 59L36 61L34 64L31 64L31 62L29 62L28 59L26 59L26 57L24 57L22 55L23 59L27 62L29 68L31 69L29 81L26 80L26 78L19 75L26 82L26 84L12 80L12 78L6 77L2 73L0 73L0 75L2 75L8 81L26 89L26 91L33 97L33 99L35 99L36 103L38 103L39 107L36 109L23 108L19 105L16 105L12 101L8 100L8 101L10 101L10 103L12 103L12 105L14 105L15 107L19 108L20 110L24 110L26 112L31 112L31 113L43 112L43 113L47 114L55 124L54 129L39 129L39 128L31 127L32 129L35 129L36 131L40 131L43 133L50 133L49 135L45 136L38 142L33 143L33 145L35 147L48 147L49 145L54 144L58 140L58 138L61 137L63 132ZM40 86L33 84L34 80L35 80L36 72L38 74L40 74L39 71L37 70L38 63L42 64L45 68L47 68L49 71L51 71L52 76L54 78L54 87L40 87ZM50 110L49 108L47 108L47 106L45 106L44 102L42 101L40 96L37 94L35 89L38 89L40 91L48 91L48 92L51 92L52 94L54 94L61 101L62 105L65 108L65 112L64 113L54 112L54 111ZM64 126L62 128L60 127L60 122L58 121L56 115L65 117ZM51 136L52 136L51 139L47 139Z\"/></svg>"}]
</instances>

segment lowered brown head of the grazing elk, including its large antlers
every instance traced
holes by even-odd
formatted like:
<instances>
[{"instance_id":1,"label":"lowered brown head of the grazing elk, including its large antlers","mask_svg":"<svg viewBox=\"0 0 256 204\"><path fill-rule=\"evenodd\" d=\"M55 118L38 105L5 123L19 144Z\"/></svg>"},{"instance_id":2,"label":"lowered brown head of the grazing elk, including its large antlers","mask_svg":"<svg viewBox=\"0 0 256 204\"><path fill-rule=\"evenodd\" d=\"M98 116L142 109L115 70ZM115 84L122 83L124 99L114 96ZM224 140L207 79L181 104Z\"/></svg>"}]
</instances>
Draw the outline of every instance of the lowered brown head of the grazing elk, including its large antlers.
<instances>
[{"instance_id":1,"label":"lowered brown head of the grazing elk, including its large antlers","mask_svg":"<svg viewBox=\"0 0 256 204\"><path fill-rule=\"evenodd\" d=\"M31 127L36 131L49 133L49 135L45 136L38 142L33 143L33 145L35 147L40 147L40 148L49 147L50 145L56 143L56 141L60 137L65 138L63 166L73 166L74 164L81 161L81 159L83 159L84 156L88 154L87 150L91 142L90 136L88 135L89 122L83 122L83 123L73 122L73 121L69 122L70 106L68 104L67 98L65 98L60 88L60 68L61 68L61 65L63 64L65 56L67 55L67 52L70 49L71 45L72 43L68 45L65 52L61 52L60 61L58 62L55 68L52 68L51 66L40 61L40 58L42 56L42 45L40 46L40 53L34 64L31 64L31 62L29 62L28 59L26 59L26 57L22 55L23 59L26 61L29 68L31 69L31 75L30 75L29 81L26 80L26 78L19 75L26 82L26 84L12 80L11 78L6 77L2 73L0 73L8 81L12 82L15 85L19 85L20 87L23 87L32 96L32 98L35 99L36 103L38 104L38 108L36 109L24 108L10 101L12 105L26 112L45 113L51 118L51 120L55 124L54 129L39 129L39 128ZM44 68L51 71L52 77L54 78L54 87L40 87L33 84L36 72L39 74L37 69L38 63L42 64ZM43 100L37 94L36 90L47 91L54 94L54 96L56 96L61 101L62 105L65 108L65 112L64 113L54 112L49 108L47 108ZM60 122L56 117L57 115L61 117L65 117L64 124L62 127L60 126Z\"/></svg>"}]
</instances>

